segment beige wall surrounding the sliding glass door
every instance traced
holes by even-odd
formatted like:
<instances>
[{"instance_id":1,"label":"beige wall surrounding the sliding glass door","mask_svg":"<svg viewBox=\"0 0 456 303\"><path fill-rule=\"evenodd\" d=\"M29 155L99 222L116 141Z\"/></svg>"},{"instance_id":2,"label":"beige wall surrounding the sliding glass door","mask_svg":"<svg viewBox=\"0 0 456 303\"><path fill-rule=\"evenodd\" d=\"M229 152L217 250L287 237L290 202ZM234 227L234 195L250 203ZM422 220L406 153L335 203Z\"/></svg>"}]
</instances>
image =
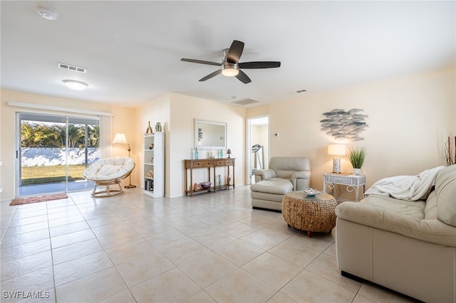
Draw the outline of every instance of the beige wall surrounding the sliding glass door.
<instances>
[{"instance_id":1,"label":"beige wall surrounding the sliding glass door","mask_svg":"<svg viewBox=\"0 0 456 303\"><path fill-rule=\"evenodd\" d=\"M51 97L46 95L29 94L26 92L14 92L11 90L1 90L1 121L0 121L0 161L4 162L1 166L1 184L0 187L4 188L1 195L2 200L11 200L16 196L14 192L14 180L16 178L15 164L16 164L16 112L47 112L55 113L58 115L72 115L79 117L90 117L95 115L75 114L73 112L56 112L51 110L34 110L24 107L12 107L8 102L21 102L31 103L32 105L46 105L53 107L62 107L76 110L90 110L94 112L109 112L113 114L113 129L110 140L113 139L115 132L125 132L127 139L134 143L135 129L132 127L135 111L131 108L118 107L99 102L87 102L81 100L66 99L60 97ZM131 138L131 139L130 139ZM114 147L111 151L113 156L126 156L128 151L126 147ZM137 171L134 171L132 181L134 178L138 179Z\"/></svg>"}]
</instances>

